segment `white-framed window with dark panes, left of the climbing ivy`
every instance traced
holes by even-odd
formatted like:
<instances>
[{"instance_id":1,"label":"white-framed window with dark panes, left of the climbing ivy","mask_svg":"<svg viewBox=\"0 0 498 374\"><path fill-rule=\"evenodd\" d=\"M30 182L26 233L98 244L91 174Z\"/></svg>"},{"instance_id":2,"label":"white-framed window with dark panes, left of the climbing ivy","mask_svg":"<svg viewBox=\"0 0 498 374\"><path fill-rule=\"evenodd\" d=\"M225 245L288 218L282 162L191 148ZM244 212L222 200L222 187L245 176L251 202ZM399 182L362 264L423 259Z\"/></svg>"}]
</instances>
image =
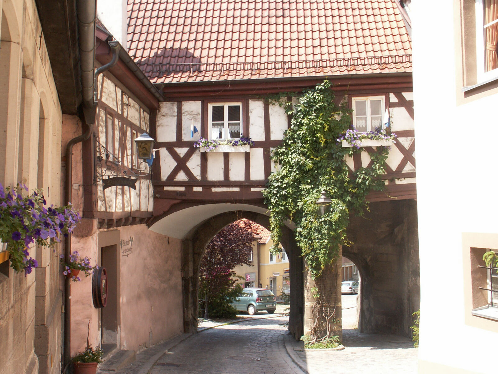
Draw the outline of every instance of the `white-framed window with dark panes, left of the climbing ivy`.
<instances>
[{"instance_id":1,"label":"white-framed window with dark panes, left of the climbing ivy","mask_svg":"<svg viewBox=\"0 0 498 374\"><path fill-rule=\"evenodd\" d=\"M208 118L210 140L242 137L242 103L211 103Z\"/></svg>"}]
</instances>

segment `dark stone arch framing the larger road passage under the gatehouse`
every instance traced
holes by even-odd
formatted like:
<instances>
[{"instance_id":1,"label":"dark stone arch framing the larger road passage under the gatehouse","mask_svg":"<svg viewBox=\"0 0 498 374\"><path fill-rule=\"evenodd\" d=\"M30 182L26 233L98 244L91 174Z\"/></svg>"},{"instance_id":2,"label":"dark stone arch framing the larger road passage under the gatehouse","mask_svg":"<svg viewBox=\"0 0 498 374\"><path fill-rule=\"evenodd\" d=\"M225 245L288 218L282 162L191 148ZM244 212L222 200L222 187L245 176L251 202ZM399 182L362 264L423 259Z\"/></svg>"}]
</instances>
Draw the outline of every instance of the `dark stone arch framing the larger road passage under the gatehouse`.
<instances>
[{"instance_id":1,"label":"dark stone arch framing the larger road passage under the gatehouse","mask_svg":"<svg viewBox=\"0 0 498 374\"><path fill-rule=\"evenodd\" d=\"M199 265L204 248L223 227L241 218L247 218L263 227L269 226L268 217L251 211L230 211L215 215L193 228L182 240L182 286L184 331L197 332ZM299 339L303 335L304 290L303 259L296 245L294 233L284 227L282 245L289 257L291 301L289 331Z\"/></svg>"}]
</instances>

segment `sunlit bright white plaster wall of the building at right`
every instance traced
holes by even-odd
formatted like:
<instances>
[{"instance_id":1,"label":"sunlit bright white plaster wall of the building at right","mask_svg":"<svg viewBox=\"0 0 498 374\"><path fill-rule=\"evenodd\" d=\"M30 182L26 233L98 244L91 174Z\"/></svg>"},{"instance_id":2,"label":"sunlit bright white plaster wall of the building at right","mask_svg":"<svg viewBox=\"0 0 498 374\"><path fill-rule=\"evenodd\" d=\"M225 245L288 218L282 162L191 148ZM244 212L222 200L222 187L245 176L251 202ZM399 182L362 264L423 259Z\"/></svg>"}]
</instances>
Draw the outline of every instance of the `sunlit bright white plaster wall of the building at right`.
<instances>
[{"instance_id":1,"label":"sunlit bright white plaster wall of the building at right","mask_svg":"<svg viewBox=\"0 0 498 374\"><path fill-rule=\"evenodd\" d=\"M457 105L461 87L456 82L462 73L462 59L455 53L460 46L455 31L459 17L454 21L457 1L421 0L411 8L418 149L419 360L489 373L495 365L485 357L498 334L465 324L463 275L468 269L463 268L462 232L498 232L498 180L493 172L497 150L489 142L498 136L498 94L476 95ZM435 43L435 34L445 42ZM443 60L448 62L444 68L434 63ZM443 292L434 287L442 266L452 275L451 287Z\"/></svg>"}]
</instances>

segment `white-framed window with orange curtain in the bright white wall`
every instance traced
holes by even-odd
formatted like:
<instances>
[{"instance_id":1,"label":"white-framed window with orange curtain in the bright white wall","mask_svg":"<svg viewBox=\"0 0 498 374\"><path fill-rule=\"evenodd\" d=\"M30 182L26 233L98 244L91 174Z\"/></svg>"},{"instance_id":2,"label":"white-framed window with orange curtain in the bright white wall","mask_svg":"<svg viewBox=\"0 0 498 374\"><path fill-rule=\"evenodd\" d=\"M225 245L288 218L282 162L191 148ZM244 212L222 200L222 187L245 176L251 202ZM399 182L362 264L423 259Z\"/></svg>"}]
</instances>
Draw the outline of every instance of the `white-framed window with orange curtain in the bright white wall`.
<instances>
[{"instance_id":1,"label":"white-framed window with orange curtain in the bright white wall","mask_svg":"<svg viewBox=\"0 0 498 374\"><path fill-rule=\"evenodd\" d=\"M476 59L479 82L498 76L498 0L476 0Z\"/></svg>"}]
</instances>

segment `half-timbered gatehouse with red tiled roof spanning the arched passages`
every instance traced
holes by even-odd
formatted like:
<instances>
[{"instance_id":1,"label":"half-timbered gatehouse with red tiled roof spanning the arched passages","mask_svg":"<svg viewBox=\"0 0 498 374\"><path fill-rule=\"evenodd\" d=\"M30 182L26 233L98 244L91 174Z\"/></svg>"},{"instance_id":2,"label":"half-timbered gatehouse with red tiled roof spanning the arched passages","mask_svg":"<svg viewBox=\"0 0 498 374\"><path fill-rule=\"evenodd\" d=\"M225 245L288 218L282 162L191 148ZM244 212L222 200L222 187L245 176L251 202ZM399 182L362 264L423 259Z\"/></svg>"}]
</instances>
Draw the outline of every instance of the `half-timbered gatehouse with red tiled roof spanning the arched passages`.
<instances>
[{"instance_id":1,"label":"half-timbered gatehouse with red tiled roof spanning the arched passages","mask_svg":"<svg viewBox=\"0 0 498 374\"><path fill-rule=\"evenodd\" d=\"M165 98L155 123L149 225L181 240L185 330L196 330L197 269L210 238L241 217L268 225L261 191L276 167L272 149L290 124L275 97L294 101L329 79L338 100L355 110L359 131L387 114L397 134L385 190L369 196L366 218L352 217L354 244L343 253L362 276L360 329L408 335L419 278L411 45L399 3L130 0L128 17L129 53ZM194 147L200 138L239 143ZM253 144L241 145L243 138ZM366 152L347 160L351 170L368 166L376 146L364 144ZM299 338L303 261L292 229L282 244L290 329Z\"/></svg>"}]
</instances>

